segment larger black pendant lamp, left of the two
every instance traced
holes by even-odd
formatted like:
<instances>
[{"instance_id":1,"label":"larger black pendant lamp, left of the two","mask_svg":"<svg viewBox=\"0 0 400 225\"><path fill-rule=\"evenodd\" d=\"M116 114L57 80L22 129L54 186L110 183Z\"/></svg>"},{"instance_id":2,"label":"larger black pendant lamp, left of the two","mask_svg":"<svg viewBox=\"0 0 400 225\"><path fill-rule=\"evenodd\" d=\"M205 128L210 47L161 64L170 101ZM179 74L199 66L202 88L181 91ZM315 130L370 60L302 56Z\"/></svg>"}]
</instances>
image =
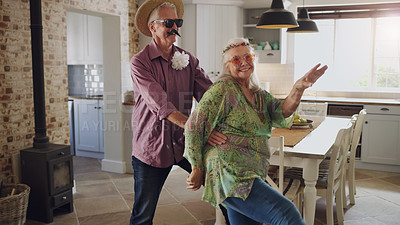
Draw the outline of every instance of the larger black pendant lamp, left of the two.
<instances>
[{"instance_id":1,"label":"larger black pendant lamp, left of the two","mask_svg":"<svg viewBox=\"0 0 400 225\"><path fill-rule=\"evenodd\" d=\"M271 8L261 15L256 27L279 29L298 27L298 24L293 13L283 7L282 0L273 0Z\"/></svg>"}]
</instances>

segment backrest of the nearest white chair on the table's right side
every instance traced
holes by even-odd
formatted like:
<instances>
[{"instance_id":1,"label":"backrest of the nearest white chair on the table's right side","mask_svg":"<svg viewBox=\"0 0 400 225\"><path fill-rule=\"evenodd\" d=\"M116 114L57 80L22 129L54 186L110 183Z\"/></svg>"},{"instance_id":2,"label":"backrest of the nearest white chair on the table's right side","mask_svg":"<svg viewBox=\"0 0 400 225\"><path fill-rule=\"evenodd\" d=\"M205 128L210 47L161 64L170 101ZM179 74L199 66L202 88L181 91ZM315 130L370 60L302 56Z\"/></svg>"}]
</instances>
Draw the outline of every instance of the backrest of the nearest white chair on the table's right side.
<instances>
[{"instance_id":1,"label":"backrest of the nearest white chair on the table's right side","mask_svg":"<svg viewBox=\"0 0 400 225\"><path fill-rule=\"evenodd\" d=\"M340 129L336 136L335 143L331 147L327 183L328 188L332 187L334 190L337 190L341 186L352 130L352 123L349 123L346 128Z\"/></svg>"}]
</instances>

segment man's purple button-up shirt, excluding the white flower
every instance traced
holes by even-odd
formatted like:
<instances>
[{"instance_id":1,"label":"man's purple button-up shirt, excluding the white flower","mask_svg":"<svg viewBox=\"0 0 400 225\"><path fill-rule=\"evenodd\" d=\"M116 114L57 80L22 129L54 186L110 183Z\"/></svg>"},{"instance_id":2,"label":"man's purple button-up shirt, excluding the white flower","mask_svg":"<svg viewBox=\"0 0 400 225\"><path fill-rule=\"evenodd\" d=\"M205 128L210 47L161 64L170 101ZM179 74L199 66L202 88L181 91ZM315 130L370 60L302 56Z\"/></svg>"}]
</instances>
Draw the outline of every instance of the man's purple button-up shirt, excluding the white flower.
<instances>
[{"instance_id":1,"label":"man's purple button-up shirt, excluding the white flower","mask_svg":"<svg viewBox=\"0 0 400 225\"><path fill-rule=\"evenodd\" d=\"M212 84L196 57L177 46L172 47L171 56L175 51L189 55L189 65L182 70L173 69L171 60L162 57L154 39L131 60L136 101L132 111L132 155L160 168L182 160L185 146L184 130L167 116L175 110L188 116L193 97L200 101Z\"/></svg>"}]
</instances>

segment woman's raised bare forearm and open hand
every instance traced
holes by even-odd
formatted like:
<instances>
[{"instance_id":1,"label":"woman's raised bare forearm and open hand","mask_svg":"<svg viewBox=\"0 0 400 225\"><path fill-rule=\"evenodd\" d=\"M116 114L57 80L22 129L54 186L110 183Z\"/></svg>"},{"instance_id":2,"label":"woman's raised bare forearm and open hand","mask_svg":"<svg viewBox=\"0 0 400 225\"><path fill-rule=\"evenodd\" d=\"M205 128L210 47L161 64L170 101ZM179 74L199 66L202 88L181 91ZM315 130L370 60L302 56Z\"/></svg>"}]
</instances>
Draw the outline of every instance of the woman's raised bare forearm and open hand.
<instances>
[{"instance_id":1,"label":"woman's raised bare forearm and open hand","mask_svg":"<svg viewBox=\"0 0 400 225\"><path fill-rule=\"evenodd\" d=\"M317 64L310 71L308 71L302 78L298 79L293 85L292 90L286 97L282 105L283 116L289 117L297 109L300 104L301 96L303 96L304 91L311 87L328 69L325 65L318 69L321 64Z\"/></svg>"}]
</instances>

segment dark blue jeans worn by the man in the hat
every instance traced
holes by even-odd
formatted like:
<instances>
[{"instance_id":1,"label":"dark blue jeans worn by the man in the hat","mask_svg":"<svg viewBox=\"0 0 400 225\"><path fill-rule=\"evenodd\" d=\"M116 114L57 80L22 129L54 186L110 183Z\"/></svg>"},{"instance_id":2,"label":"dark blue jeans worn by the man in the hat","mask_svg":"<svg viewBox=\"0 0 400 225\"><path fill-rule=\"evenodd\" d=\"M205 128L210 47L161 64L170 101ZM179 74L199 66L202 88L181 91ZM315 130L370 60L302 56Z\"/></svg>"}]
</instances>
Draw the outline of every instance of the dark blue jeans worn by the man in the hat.
<instances>
[{"instance_id":1,"label":"dark blue jeans worn by the man in the hat","mask_svg":"<svg viewBox=\"0 0 400 225\"><path fill-rule=\"evenodd\" d=\"M192 172L190 163L183 159L178 165L188 173ZM161 189L172 166L157 168L149 166L132 156L135 202L130 225L151 225L156 211Z\"/></svg>"}]
</instances>

